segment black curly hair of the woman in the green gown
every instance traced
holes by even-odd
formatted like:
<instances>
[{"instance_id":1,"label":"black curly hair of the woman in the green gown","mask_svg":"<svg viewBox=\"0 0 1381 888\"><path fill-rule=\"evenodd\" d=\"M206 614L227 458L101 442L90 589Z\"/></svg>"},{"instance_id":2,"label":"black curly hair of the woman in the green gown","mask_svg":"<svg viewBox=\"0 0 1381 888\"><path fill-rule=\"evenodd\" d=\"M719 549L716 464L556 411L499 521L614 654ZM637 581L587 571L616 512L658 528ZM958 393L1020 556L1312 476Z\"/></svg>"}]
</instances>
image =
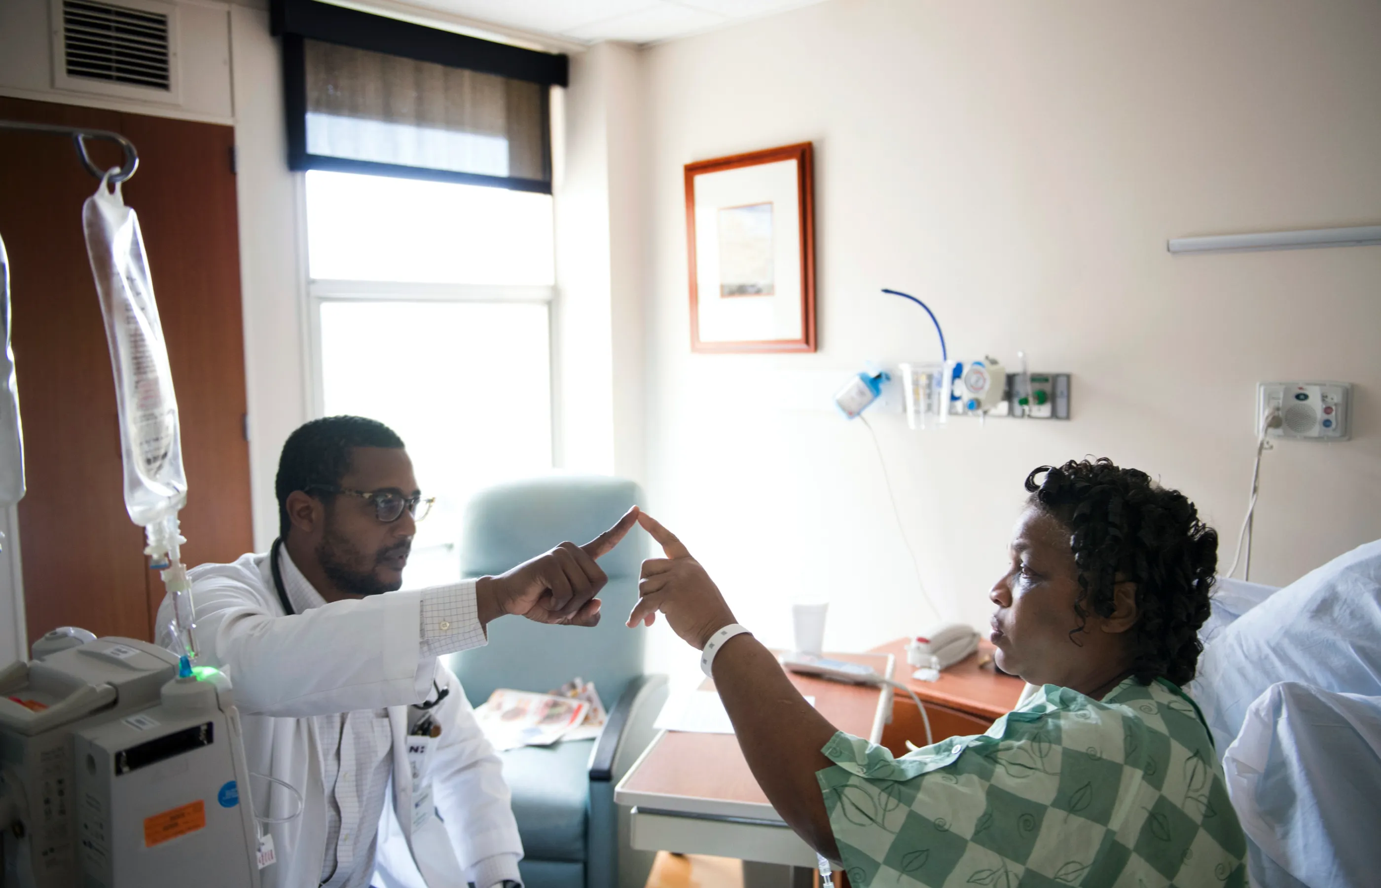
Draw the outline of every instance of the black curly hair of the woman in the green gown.
<instances>
[{"instance_id":1,"label":"black curly hair of the woman in the green gown","mask_svg":"<svg viewBox=\"0 0 1381 888\"><path fill-rule=\"evenodd\" d=\"M1143 685L1161 675L1188 684L1203 652L1199 627L1208 619L1218 532L1199 521L1185 494L1106 457L1041 465L1026 476L1026 490L1032 505L1070 532L1081 590L1070 638L1079 644L1085 604L1110 616L1113 584L1130 580L1137 584L1132 675Z\"/></svg>"}]
</instances>

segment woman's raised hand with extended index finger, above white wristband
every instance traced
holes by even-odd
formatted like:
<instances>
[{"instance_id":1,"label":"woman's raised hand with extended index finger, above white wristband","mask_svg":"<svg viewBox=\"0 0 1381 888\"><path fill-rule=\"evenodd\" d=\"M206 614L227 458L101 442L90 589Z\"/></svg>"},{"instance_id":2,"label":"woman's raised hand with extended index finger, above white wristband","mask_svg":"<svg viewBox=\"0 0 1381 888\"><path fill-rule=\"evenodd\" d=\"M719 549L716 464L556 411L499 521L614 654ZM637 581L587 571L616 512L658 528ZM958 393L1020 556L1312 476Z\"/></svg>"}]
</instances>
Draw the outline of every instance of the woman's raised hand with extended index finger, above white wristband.
<instances>
[{"instance_id":1,"label":"woman's raised hand with extended index finger, above white wristband","mask_svg":"<svg viewBox=\"0 0 1381 888\"><path fill-rule=\"evenodd\" d=\"M677 635L703 650L711 635L735 621L733 612L720 587L674 533L645 512L638 515L638 523L661 544L667 557L642 562L641 598L628 615L628 626L652 626L660 610Z\"/></svg>"}]
</instances>

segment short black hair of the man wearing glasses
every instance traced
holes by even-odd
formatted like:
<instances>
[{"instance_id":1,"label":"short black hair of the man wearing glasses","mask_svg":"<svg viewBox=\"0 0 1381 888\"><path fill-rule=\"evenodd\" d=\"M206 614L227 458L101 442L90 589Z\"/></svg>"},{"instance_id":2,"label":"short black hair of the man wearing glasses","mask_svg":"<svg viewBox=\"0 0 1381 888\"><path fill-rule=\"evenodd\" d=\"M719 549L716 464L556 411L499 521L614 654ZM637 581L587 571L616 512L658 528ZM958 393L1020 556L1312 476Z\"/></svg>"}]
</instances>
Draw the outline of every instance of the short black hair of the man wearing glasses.
<instances>
[{"instance_id":1,"label":"short black hair of the man wearing glasses","mask_svg":"<svg viewBox=\"0 0 1381 888\"><path fill-rule=\"evenodd\" d=\"M402 447L398 432L378 420L362 416L327 416L300 425L283 443L278 457L278 533L284 540L293 522L287 517L287 497L294 490L313 485L338 485L349 471L354 447ZM330 501L330 493L313 494Z\"/></svg>"}]
</instances>

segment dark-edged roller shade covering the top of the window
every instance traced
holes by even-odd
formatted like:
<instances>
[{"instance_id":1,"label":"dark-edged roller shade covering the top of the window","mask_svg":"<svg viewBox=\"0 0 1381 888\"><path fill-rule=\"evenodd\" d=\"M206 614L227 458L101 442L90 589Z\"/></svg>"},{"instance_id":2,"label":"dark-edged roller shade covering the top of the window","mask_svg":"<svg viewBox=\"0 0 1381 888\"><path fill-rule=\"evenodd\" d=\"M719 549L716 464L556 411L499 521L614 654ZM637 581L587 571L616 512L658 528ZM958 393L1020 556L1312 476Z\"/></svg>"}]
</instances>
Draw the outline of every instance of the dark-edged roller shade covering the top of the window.
<instances>
[{"instance_id":1,"label":"dark-edged roller shade covering the top of the window","mask_svg":"<svg viewBox=\"0 0 1381 888\"><path fill-rule=\"evenodd\" d=\"M289 168L551 192L548 94L565 57L309 0L273 14Z\"/></svg>"}]
</instances>

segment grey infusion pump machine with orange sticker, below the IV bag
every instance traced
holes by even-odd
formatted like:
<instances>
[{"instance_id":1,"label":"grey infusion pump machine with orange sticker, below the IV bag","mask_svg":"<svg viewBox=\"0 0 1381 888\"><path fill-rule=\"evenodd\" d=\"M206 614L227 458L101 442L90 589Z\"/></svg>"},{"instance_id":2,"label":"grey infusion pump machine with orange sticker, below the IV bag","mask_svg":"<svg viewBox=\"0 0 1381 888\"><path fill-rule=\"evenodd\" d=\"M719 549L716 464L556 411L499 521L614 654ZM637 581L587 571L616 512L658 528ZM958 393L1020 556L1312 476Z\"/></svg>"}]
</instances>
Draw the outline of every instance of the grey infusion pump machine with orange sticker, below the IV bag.
<instances>
[{"instance_id":1,"label":"grey infusion pump machine with orange sticker, below the IV bag","mask_svg":"<svg viewBox=\"0 0 1381 888\"><path fill-rule=\"evenodd\" d=\"M0 670L4 888L258 888L229 679L178 678L131 638L72 644Z\"/></svg>"}]
</instances>

